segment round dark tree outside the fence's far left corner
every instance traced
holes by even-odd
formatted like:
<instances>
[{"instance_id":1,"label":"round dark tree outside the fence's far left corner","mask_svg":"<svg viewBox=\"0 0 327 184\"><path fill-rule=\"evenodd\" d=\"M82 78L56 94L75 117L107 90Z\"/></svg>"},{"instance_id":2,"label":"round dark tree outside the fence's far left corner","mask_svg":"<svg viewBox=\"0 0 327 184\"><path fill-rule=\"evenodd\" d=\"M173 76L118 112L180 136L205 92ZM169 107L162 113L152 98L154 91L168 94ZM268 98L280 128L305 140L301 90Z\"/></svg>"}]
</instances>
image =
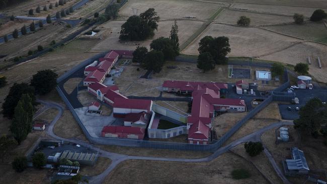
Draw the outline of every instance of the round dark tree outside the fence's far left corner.
<instances>
[{"instance_id":1,"label":"round dark tree outside the fence's far left corner","mask_svg":"<svg viewBox=\"0 0 327 184\"><path fill-rule=\"evenodd\" d=\"M35 87L35 93L45 95L57 85L58 74L50 69L40 70L31 79L31 86Z\"/></svg>"}]
</instances>

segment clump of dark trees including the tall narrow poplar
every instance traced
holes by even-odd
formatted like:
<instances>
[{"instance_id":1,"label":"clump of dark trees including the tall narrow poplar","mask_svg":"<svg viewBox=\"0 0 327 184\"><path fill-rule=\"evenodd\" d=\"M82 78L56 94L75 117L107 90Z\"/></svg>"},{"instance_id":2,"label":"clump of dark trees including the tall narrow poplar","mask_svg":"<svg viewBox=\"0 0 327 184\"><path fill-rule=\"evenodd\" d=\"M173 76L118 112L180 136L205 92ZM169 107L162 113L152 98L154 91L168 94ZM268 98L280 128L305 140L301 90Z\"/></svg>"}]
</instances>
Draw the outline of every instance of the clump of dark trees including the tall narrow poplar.
<instances>
[{"instance_id":1,"label":"clump of dark trees including the tall narrow poplar","mask_svg":"<svg viewBox=\"0 0 327 184\"><path fill-rule=\"evenodd\" d=\"M175 21L169 38L160 37L150 44L150 51L146 47L137 47L133 52L133 62L140 63L147 70L159 72L166 60L174 60L179 55L178 26Z\"/></svg>"}]
</instances>

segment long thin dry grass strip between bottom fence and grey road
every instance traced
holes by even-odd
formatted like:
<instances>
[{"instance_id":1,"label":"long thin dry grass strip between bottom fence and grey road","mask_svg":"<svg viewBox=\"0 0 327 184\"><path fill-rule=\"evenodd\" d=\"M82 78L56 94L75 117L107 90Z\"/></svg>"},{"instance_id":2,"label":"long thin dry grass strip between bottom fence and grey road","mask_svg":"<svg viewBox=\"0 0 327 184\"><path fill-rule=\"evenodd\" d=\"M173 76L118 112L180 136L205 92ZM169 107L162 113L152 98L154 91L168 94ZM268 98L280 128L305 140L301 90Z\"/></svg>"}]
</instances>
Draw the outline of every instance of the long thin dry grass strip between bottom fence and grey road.
<instances>
[{"instance_id":1,"label":"long thin dry grass strip between bottom fence and grey road","mask_svg":"<svg viewBox=\"0 0 327 184\"><path fill-rule=\"evenodd\" d=\"M210 152L202 152L202 151L150 149L150 148L125 147L125 146L114 146L114 145L97 145L97 146L109 152L132 155L132 156L153 156L153 157L165 157L165 158L202 158L212 154Z\"/></svg>"}]
</instances>

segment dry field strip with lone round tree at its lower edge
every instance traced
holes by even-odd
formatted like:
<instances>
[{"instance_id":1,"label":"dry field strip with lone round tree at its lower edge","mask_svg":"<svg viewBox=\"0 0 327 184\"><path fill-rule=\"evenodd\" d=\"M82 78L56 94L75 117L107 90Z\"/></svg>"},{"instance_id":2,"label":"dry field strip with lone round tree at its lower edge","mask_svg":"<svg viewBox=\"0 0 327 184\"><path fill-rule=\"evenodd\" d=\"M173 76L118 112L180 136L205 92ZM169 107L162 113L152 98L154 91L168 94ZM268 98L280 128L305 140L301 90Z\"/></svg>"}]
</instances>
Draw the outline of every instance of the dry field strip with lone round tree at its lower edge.
<instances>
[{"instance_id":1,"label":"dry field strip with lone round tree at its lower edge","mask_svg":"<svg viewBox=\"0 0 327 184\"><path fill-rule=\"evenodd\" d=\"M234 10L224 10L222 13L219 14L215 21L218 23L236 24L240 16L249 17L251 19L251 26L281 24L294 21L292 17L287 16L258 14Z\"/></svg>"}]
</instances>

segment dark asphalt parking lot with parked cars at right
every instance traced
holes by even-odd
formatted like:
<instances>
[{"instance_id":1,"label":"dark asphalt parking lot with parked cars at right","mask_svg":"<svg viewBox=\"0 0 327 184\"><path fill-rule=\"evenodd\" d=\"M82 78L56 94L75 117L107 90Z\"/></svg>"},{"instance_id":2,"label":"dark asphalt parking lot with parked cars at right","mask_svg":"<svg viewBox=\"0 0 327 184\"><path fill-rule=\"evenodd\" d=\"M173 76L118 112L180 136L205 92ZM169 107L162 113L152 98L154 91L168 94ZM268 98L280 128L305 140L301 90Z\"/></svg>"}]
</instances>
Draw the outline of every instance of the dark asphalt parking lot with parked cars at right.
<instances>
[{"instance_id":1,"label":"dark asphalt parking lot with parked cars at right","mask_svg":"<svg viewBox=\"0 0 327 184\"><path fill-rule=\"evenodd\" d=\"M299 99L299 104L279 104L279 112L284 120L295 120L299 118L296 107L301 108L312 98L319 98L322 102L327 102L327 89L324 88L313 88L309 89L295 89L295 96ZM288 110L287 107L291 107Z\"/></svg>"}]
</instances>

